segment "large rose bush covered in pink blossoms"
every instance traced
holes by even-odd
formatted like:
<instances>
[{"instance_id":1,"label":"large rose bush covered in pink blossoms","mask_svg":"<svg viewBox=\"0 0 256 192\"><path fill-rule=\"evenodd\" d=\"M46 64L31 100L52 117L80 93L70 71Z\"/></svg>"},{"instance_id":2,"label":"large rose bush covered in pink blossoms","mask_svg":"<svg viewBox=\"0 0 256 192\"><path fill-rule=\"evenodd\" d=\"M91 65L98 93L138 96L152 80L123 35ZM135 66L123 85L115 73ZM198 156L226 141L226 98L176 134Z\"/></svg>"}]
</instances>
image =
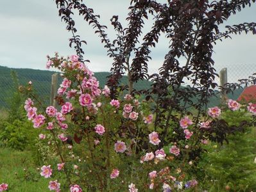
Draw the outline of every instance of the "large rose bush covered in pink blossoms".
<instances>
[{"instance_id":1,"label":"large rose bush covered in pink blossoms","mask_svg":"<svg viewBox=\"0 0 256 192\"><path fill-rule=\"evenodd\" d=\"M47 179L60 177L49 180L53 191L198 188L194 170L202 146L209 141L223 143L226 135L243 128L230 126L221 118L222 110L246 109L228 100L228 108L209 108L198 123L194 116L175 114L176 122L171 122L164 134L153 124L153 99L123 97L121 92L110 98L108 86L100 89L94 73L76 55L65 59L56 53L48 57L49 67L58 68L64 78L56 97L60 108L38 102L31 84L23 92L29 97L24 106L28 119L42 131L39 137L47 140L50 152L58 156L55 164L44 164L40 172ZM252 106L248 110L254 115Z\"/></svg>"}]
</instances>

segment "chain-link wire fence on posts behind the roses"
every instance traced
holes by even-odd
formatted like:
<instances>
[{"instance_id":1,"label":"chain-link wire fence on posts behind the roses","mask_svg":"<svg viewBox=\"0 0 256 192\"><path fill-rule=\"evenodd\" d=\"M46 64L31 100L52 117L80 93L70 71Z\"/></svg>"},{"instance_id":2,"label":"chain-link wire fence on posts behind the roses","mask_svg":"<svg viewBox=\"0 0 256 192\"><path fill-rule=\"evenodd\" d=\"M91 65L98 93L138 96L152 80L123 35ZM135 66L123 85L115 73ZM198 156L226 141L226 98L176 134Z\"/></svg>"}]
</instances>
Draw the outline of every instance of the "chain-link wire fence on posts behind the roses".
<instances>
[{"instance_id":1,"label":"chain-link wire fence on posts behind the roses","mask_svg":"<svg viewBox=\"0 0 256 192\"><path fill-rule=\"evenodd\" d=\"M219 74L221 68L227 68L227 80L228 83L237 83L238 79L248 78L256 72L255 65L216 65L216 72ZM0 108L8 108L8 102L12 102L12 95L15 92L15 86L13 84L12 76L10 75L11 70L17 72L17 77L19 84L26 84L28 81L33 83L33 87L40 97L45 101L49 102L51 95L51 76L55 73L53 71L47 70L33 70L33 69L10 69L7 67L0 67ZM157 72L157 70L155 70ZM108 72L98 72L95 76L100 82L100 86L103 87L107 81ZM58 84L60 84L62 78L59 76ZM122 84L127 84L127 77L123 77ZM219 77L216 77L216 83L219 84ZM149 81L139 81L135 84L137 90L142 90L149 88ZM185 86L183 84L183 86ZM235 90L234 94L229 94L228 98L237 99L239 95L243 92L243 89ZM216 106L220 104L220 95L217 97L210 98L209 106Z\"/></svg>"}]
</instances>

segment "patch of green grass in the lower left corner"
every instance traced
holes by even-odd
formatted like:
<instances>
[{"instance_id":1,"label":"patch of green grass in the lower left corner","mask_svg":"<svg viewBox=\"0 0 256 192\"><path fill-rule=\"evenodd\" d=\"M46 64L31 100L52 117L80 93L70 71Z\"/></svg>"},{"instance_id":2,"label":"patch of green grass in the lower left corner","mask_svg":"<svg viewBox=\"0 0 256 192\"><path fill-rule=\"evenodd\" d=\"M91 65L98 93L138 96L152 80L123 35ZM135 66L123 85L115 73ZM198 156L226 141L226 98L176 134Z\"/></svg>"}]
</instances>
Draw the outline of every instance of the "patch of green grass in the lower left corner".
<instances>
[{"instance_id":1,"label":"patch of green grass in the lower left corner","mask_svg":"<svg viewBox=\"0 0 256 192\"><path fill-rule=\"evenodd\" d=\"M28 171L33 172L29 179ZM12 192L45 192L49 191L51 179L40 176L37 166L33 163L31 152L20 152L9 148L0 148L0 183L7 183Z\"/></svg>"}]
</instances>

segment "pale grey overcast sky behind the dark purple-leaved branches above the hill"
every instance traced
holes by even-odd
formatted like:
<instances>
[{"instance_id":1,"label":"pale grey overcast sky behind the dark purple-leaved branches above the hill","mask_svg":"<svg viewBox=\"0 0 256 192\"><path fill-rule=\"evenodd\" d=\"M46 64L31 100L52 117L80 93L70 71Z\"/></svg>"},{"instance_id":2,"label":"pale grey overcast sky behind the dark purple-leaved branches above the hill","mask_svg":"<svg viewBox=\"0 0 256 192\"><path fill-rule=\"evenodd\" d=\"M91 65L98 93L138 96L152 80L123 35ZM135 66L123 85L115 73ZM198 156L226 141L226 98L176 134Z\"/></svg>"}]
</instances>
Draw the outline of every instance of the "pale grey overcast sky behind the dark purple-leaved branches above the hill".
<instances>
[{"instance_id":1,"label":"pale grey overcast sky behind the dark purple-leaved branches above the hill","mask_svg":"<svg viewBox=\"0 0 256 192\"><path fill-rule=\"evenodd\" d=\"M114 31L110 26L112 15L119 15L125 20L129 0L86 0L94 12L101 15L101 24L107 25L110 39ZM160 2L165 2L161 0ZM225 25L241 22L256 22L256 4L237 13ZM94 72L109 71L112 60L101 45L94 31L79 17L76 19L78 35L87 40L86 58L90 60L90 69ZM74 54L69 48L71 37L64 22L58 17L58 10L53 0L12 0L0 1L0 65L13 68L46 69L46 55L53 56L58 51L62 56ZM223 25L223 26L225 26ZM150 22L145 26L149 30ZM222 28L223 29L223 28ZM167 52L167 42L160 38L157 49L153 50L153 61L149 63L149 72L157 72ZM232 40L224 40L215 46L214 60L216 68L242 67L247 74L256 72L256 36L237 35ZM254 65L255 64L255 65ZM239 73L240 74L240 73Z\"/></svg>"}]
</instances>

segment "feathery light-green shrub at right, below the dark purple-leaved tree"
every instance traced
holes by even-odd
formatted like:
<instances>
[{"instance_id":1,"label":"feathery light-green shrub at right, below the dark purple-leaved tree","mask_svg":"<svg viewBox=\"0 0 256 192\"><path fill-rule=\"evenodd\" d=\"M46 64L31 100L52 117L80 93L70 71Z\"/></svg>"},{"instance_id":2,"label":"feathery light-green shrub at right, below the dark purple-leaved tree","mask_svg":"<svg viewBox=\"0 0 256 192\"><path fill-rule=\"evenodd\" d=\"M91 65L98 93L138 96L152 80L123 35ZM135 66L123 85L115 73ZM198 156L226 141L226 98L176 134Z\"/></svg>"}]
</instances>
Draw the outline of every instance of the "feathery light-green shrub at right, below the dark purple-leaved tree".
<instances>
[{"instance_id":1,"label":"feathery light-green shrub at right, below the dark purple-leaved tree","mask_svg":"<svg viewBox=\"0 0 256 192\"><path fill-rule=\"evenodd\" d=\"M222 116L230 125L239 125L251 118L245 111L226 111ZM206 178L206 189L224 191L228 186L231 191L256 190L255 138L255 127L247 127L244 132L228 136L228 144L207 146L208 153L200 163L200 171L205 170L201 176ZM214 187L210 187L212 184Z\"/></svg>"}]
</instances>

